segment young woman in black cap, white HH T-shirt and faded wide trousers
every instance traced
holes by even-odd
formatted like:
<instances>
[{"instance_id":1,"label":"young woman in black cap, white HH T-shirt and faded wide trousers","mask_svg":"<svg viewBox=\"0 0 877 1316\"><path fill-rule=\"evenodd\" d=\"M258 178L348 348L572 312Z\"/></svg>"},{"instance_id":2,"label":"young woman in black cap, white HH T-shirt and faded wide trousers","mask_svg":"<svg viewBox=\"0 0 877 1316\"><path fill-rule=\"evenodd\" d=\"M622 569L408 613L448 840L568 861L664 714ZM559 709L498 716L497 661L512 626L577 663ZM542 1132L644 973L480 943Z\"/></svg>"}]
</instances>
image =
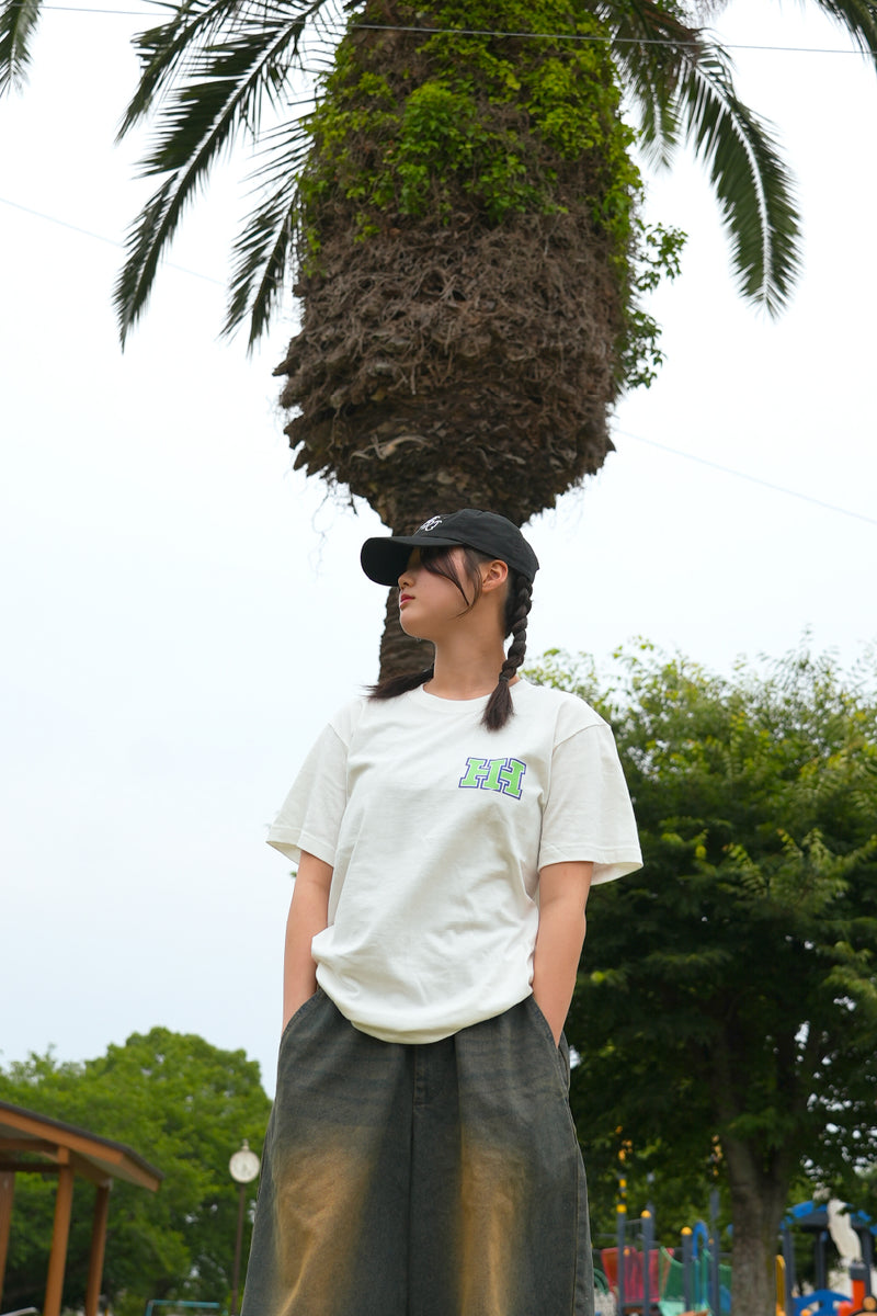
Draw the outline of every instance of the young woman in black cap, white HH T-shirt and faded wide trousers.
<instances>
[{"instance_id":1,"label":"young woman in black cap, white HH T-shirt and faded wide trousers","mask_svg":"<svg viewBox=\"0 0 877 1316\"><path fill-rule=\"evenodd\" d=\"M298 871L243 1316L589 1316L563 1024L588 891L642 862L611 732L517 675L505 517L362 563L435 662L329 722L268 836Z\"/></svg>"}]
</instances>

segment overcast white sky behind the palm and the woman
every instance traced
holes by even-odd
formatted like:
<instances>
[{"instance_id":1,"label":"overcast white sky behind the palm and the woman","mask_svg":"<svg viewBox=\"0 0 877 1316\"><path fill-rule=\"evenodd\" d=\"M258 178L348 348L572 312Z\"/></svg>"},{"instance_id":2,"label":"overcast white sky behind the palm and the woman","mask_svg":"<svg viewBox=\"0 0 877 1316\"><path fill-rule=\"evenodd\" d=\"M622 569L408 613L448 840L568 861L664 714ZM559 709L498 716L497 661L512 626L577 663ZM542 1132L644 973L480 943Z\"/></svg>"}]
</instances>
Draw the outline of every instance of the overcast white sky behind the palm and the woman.
<instances>
[{"instance_id":1,"label":"overcast white sky behind the palm and the woman","mask_svg":"<svg viewBox=\"0 0 877 1316\"><path fill-rule=\"evenodd\" d=\"M141 143L113 136L150 21L47 11L0 105L0 1062L163 1024L245 1048L272 1091L289 880L264 833L375 678L383 592L358 551L381 526L291 472L271 378L291 320L252 359L217 342L237 176L172 253L208 278L166 268L120 354L112 243L145 187ZM668 362L618 408L604 472L533 526L534 654L644 634L727 671L805 626L849 662L877 632L874 74L797 8L735 0L719 30L836 51L735 51L798 178L803 278L765 321L698 166L652 182L650 217L690 234L655 299Z\"/></svg>"}]
</instances>

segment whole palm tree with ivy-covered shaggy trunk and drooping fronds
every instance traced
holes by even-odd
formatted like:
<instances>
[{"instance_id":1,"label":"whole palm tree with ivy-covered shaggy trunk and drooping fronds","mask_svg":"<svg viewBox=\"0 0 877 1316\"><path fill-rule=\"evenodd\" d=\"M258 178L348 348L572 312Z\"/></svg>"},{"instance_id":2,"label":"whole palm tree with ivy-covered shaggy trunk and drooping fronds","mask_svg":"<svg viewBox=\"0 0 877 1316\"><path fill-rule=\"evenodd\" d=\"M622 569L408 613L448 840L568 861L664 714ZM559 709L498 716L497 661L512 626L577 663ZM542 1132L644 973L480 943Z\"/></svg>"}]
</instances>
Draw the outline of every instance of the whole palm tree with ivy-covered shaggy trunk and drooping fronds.
<instances>
[{"instance_id":1,"label":"whole palm tree with ivy-covered shaggy trunk and drooping fronds","mask_svg":"<svg viewBox=\"0 0 877 1316\"><path fill-rule=\"evenodd\" d=\"M873 55L877 0L817 4ZM526 521L600 468L613 403L660 363L640 299L681 237L638 218L635 137L664 163L692 145L746 297L774 313L794 283L788 171L701 25L721 8L171 0L137 38L121 129L154 121L158 182L118 280L122 340L210 170L249 142L226 329L262 334L296 270L301 332L276 371L296 465L396 530L467 503ZM38 11L0 0L0 91ZM325 71L302 112L304 61ZM422 662L393 637L384 671Z\"/></svg>"}]
</instances>

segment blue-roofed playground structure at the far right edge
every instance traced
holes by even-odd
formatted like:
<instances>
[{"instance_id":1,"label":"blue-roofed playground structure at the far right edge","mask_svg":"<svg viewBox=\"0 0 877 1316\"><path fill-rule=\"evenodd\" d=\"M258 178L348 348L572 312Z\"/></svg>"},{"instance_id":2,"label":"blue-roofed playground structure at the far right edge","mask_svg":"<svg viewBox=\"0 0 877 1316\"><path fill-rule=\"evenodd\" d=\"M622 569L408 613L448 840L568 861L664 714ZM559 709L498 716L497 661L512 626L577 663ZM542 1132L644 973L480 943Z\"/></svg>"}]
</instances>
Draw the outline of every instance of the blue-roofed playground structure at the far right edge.
<instances>
[{"instance_id":1,"label":"blue-roofed playground structure at the far right edge","mask_svg":"<svg viewBox=\"0 0 877 1316\"><path fill-rule=\"evenodd\" d=\"M795 1287L793 1229L814 1234L815 1290L801 1298L793 1295ZM792 1207L782 1221L785 1302L784 1305L777 1304L780 1316L860 1316L863 1312L877 1312L877 1299L870 1286L874 1232L876 1227L869 1216L839 1202L801 1202L797 1207ZM852 1298L827 1286L828 1238L848 1267Z\"/></svg>"}]
</instances>

